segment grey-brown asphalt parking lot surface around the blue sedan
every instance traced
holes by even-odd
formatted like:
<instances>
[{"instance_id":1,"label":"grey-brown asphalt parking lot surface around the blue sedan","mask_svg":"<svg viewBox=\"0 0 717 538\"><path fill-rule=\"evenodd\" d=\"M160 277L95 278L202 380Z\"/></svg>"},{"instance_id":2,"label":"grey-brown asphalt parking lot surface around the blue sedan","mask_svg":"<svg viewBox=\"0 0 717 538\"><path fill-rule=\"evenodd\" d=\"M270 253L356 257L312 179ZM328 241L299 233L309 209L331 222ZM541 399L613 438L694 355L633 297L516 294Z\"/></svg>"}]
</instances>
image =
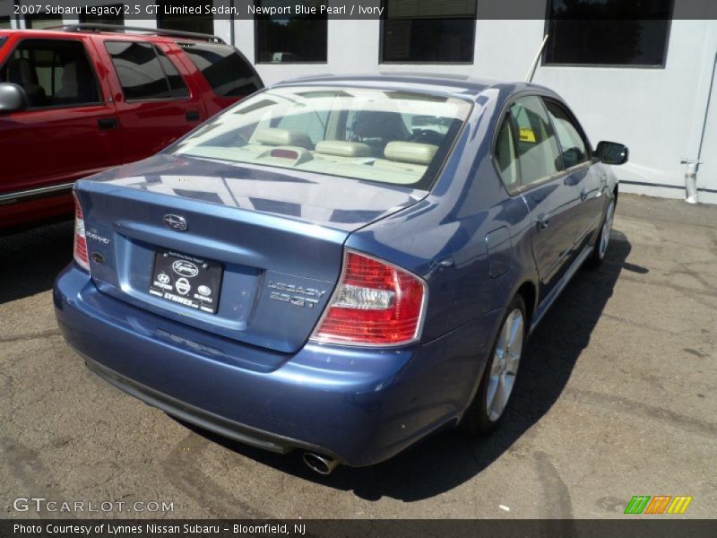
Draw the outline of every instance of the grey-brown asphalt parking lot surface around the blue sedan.
<instances>
[{"instance_id":1,"label":"grey-brown asphalt parking lot surface around the blue sedan","mask_svg":"<svg viewBox=\"0 0 717 538\"><path fill-rule=\"evenodd\" d=\"M606 263L536 330L499 430L447 431L328 477L298 453L192 430L85 369L50 291L72 231L0 239L5 517L97 516L13 508L32 496L125 503L103 514L117 517L625 517L634 495L692 496L684 517L717 516L714 206L621 195Z\"/></svg>"}]
</instances>

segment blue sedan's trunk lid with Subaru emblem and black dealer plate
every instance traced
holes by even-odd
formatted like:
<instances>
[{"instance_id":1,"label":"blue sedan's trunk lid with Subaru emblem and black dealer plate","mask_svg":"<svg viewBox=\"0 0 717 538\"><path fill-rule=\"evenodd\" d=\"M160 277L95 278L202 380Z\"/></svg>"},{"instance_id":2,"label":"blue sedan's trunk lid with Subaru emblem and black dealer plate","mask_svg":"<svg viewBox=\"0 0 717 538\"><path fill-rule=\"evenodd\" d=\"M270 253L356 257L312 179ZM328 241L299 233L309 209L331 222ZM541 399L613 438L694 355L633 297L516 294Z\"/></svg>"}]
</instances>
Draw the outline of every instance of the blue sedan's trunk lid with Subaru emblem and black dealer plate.
<instances>
[{"instance_id":1,"label":"blue sedan's trunk lid with Subaru emblem and black dealer plate","mask_svg":"<svg viewBox=\"0 0 717 538\"><path fill-rule=\"evenodd\" d=\"M283 352L297 351L311 334L349 234L426 195L168 155L76 189L100 291Z\"/></svg>"}]
</instances>

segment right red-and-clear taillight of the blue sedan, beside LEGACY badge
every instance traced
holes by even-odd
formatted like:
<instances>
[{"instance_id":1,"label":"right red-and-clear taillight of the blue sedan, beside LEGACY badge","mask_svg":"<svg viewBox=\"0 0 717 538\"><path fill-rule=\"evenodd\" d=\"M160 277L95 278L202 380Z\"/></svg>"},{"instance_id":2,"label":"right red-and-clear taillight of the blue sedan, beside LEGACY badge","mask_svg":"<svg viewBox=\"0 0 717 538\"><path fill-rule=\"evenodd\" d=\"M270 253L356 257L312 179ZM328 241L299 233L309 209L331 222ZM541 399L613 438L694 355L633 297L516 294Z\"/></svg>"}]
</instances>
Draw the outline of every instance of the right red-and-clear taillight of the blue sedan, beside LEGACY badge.
<instances>
[{"instance_id":1,"label":"right red-and-clear taillight of the blue sedan, beside LEGACY badge","mask_svg":"<svg viewBox=\"0 0 717 538\"><path fill-rule=\"evenodd\" d=\"M312 340L400 345L419 337L426 283L375 258L346 251L341 281Z\"/></svg>"}]
</instances>

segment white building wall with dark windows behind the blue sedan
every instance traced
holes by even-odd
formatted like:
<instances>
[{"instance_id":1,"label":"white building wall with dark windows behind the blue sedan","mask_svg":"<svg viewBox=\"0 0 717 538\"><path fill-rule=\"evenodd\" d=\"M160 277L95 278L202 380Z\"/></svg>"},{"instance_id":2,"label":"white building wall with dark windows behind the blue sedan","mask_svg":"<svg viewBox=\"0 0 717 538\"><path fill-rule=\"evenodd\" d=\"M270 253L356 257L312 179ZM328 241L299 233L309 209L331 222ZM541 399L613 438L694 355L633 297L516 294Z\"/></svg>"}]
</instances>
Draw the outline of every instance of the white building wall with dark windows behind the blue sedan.
<instances>
[{"instance_id":1,"label":"white building wall with dark windows behind the blue sedan","mask_svg":"<svg viewBox=\"0 0 717 538\"><path fill-rule=\"evenodd\" d=\"M238 48L253 59L254 22L235 24ZM419 72L523 80L545 22L478 21L472 65L381 65L380 22L330 21L328 29L326 64L256 65L264 82L307 74ZM680 161L697 158L708 113L697 187L706 189L701 202L717 203L717 96L706 109L715 53L717 21L676 20L664 68L539 65L533 82L566 99L593 145L600 140L626 143L630 161L616 168L626 192L683 198L686 165Z\"/></svg>"}]
</instances>

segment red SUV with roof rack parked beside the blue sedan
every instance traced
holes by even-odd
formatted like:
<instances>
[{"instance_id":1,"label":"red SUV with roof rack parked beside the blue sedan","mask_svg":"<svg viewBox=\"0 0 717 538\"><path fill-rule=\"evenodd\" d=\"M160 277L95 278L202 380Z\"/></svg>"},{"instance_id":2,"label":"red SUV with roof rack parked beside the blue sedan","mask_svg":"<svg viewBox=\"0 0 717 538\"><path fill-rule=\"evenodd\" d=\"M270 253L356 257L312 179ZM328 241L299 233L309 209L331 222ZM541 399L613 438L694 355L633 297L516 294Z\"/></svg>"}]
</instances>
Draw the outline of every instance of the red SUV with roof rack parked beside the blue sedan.
<instances>
[{"instance_id":1,"label":"red SUV with roof rack parked beside the blue sedan","mask_svg":"<svg viewBox=\"0 0 717 538\"><path fill-rule=\"evenodd\" d=\"M215 36L0 30L0 231L71 213L75 179L149 157L262 87Z\"/></svg>"}]
</instances>

